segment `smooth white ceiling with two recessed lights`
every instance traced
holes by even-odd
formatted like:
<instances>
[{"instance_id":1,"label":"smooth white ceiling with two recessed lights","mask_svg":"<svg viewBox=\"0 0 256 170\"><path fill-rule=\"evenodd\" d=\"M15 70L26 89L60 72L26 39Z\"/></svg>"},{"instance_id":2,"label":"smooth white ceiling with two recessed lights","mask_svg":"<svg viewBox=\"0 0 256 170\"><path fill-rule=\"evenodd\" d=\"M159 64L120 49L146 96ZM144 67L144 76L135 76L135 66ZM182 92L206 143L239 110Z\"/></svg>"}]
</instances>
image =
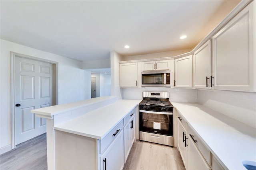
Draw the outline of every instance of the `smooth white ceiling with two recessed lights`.
<instances>
[{"instance_id":1,"label":"smooth white ceiling with two recessed lights","mask_svg":"<svg viewBox=\"0 0 256 170\"><path fill-rule=\"evenodd\" d=\"M1 0L0 36L79 61L192 49L238 2Z\"/></svg>"}]
</instances>

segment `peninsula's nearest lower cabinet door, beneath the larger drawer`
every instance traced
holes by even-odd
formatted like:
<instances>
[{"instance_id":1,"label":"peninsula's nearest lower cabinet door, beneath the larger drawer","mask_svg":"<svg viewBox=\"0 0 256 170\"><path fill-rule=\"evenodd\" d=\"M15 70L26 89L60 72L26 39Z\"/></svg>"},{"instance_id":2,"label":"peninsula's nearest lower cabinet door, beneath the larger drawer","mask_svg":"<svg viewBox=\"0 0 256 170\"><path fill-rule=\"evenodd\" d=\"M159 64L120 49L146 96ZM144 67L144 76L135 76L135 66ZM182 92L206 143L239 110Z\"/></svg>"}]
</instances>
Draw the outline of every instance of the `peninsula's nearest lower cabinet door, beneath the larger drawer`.
<instances>
[{"instance_id":1,"label":"peninsula's nearest lower cabinet door, beneath the larger drawer","mask_svg":"<svg viewBox=\"0 0 256 170\"><path fill-rule=\"evenodd\" d=\"M122 170L124 167L124 132L121 130L119 133L100 156L100 170Z\"/></svg>"}]
</instances>

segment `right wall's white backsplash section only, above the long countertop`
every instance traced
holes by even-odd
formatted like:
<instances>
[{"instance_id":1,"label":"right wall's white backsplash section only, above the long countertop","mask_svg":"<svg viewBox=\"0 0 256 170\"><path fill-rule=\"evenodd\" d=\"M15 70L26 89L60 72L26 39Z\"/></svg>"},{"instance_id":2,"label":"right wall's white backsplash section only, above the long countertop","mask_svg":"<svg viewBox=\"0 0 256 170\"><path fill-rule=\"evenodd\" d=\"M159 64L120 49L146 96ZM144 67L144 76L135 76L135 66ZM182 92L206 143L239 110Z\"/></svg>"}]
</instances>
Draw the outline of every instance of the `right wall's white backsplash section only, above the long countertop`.
<instances>
[{"instance_id":1,"label":"right wall's white backsplash section only, above the long countertop","mask_svg":"<svg viewBox=\"0 0 256 170\"><path fill-rule=\"evenodd\" d=\"M197 90L197 102L256 128L256 93Z\"/></svg>"}]
</instances>

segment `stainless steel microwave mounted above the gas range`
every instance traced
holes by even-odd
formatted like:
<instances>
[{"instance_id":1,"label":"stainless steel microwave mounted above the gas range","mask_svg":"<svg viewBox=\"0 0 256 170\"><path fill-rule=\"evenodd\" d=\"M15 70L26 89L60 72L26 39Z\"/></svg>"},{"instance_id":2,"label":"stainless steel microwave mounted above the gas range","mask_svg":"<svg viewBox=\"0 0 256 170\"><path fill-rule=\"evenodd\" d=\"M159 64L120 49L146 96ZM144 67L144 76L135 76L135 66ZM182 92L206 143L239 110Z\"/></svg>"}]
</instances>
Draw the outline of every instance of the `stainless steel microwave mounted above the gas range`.
<instances>
[{"instance_id":1,"label":"stainless steel microwave mounted above the gas range","mask_svg":"<svg viewBox=\"0 0 256 170\"><path fill-rule=\"evenodd\" d=\"M142 71L142 87L170 87L170 70Z\"/></svg>"}]
</instances>

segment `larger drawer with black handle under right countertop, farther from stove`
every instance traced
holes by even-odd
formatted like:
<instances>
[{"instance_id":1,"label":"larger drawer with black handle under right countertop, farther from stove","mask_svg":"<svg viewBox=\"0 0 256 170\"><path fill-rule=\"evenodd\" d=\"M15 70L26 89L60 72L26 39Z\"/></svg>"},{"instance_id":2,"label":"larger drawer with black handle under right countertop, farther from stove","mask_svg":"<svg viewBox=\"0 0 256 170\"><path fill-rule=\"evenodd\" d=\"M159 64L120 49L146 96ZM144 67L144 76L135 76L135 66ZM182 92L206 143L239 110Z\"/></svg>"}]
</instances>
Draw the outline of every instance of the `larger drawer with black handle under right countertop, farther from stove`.
<instances>
[{"instance_id":1,"label":"larger drawer with black handle under right countertop, farther from stove","mask_svg":"<svg viewBox=\"0 0 256 170\"><path fill-rule=\"evenodd\" d=\"M207 149L207 147L202 143L198 135L196 135L189 125L187 128L188 135L193 139L194 144L198 147L198 150L200 150L201 154L204 156L204 159L210 165L210 150Z\"/></svg>"}]
</instances>

